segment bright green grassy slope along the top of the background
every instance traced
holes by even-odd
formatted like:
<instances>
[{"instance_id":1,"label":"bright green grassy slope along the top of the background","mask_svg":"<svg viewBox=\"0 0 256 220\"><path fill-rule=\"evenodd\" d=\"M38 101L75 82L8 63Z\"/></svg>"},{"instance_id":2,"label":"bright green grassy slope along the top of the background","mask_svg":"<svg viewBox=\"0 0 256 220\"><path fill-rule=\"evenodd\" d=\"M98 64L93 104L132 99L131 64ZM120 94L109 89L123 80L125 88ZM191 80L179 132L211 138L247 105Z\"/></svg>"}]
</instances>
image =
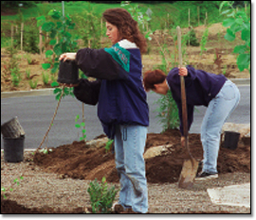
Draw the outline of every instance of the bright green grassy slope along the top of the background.
<instances>
[{"instance_id":1,"label":"bright green grassy slope along the top of the background","mask_svg":"<svg viewBox=\"0 0 256 220\"><path fill-rule=\"evenodd\" d=\"M189 10L190 25L192 26L204 25L206 14L208 25L220 23L226 18L219 15L218 4L220 3L221 1L203 2L201 4L198 4L198 2L195 1L177 1L174 4L171 4L168 2L157 3L156 1L153 1L152 4L131 3L130 6L125 8L128 9L139 5L143 14L150 8L153 11L153 14L149 26L152 30L155 30L172 29L177 25L187 27L189 25ZM120 8L120 4L97 4L93 2L89 3L87 1L64 2L64 14L69 14L70 17L72 18L73 16L74 19L78 14L82 14L84 11L93 11L93 13L100 19L102 12L107 8ZM36 27L36 18L42 15L48 17L47 13L50 9L62 11L62 2L37 4L36 7L33 8L20 8L20 13L15 15L1 16L1 47L9 44L10 24L20 26L21 21L24 20L26 26L30 26L30 29L34 28ZM198 10L200 12L199 23ZM249 7L247 7L247 11L249 13ZM76 23L75 20L74 22ZM76 28L79 29L80 26L77 25Z\"/></svg>"}]
</instances>

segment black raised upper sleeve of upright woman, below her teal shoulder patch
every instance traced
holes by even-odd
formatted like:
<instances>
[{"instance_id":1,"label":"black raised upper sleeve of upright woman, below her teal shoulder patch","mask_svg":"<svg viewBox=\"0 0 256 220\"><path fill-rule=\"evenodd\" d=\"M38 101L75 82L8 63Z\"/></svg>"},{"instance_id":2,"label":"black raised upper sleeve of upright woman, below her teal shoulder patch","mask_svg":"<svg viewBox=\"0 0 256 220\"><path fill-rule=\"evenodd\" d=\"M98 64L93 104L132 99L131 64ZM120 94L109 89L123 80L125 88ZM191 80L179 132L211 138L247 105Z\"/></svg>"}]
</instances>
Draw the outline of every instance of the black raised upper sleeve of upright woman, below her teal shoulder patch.
<instances>
[{"instance_id":1,"label":"black raised upper sleeve of upright woman, below her teal shoulder patch","mask_svg":"<svg viewBox=\"0 0 256 220\"><path fill-rule=\"evenodd\" d=\"M76 61L86 76L107 80L128 78L127 71L105 49L80 49Z\"/></svg>"}]
</instances>

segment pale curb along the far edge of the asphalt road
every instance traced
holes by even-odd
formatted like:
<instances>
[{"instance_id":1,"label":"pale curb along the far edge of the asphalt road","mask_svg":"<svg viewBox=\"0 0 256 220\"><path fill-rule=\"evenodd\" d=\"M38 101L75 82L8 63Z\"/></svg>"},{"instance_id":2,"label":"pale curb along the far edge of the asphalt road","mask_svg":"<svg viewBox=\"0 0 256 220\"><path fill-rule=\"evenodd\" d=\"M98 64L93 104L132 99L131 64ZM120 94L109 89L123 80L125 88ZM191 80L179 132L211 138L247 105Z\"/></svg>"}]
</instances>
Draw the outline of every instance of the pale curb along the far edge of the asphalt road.
<instances>
[{"instance_id":1,"label":"pale curb along the far edge of the asphalt road","mask_svg":"<svg viewBox=\"0 0 256 220\"><path fill-rule=\"evenodd\" d=\"M250 85L250 78L230 78L237 86ZM30 91L15 91L15 92L2 92L1 98L23 97L23 96L36 96L36 95L52 95L54 89L43 90L30 90Z\"/></svg>"}]
</instances>

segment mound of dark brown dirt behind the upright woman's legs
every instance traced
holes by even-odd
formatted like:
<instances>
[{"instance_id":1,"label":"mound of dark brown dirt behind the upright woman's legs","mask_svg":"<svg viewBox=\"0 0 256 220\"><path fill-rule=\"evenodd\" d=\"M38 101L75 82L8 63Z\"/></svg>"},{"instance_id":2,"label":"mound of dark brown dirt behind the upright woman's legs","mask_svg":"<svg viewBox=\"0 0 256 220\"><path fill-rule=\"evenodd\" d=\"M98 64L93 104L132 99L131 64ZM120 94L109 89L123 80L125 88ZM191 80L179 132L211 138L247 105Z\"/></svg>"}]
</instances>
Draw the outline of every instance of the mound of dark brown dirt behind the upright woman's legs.
<instances>
[{"instance_id":1,"label":"mound of dark brown dirt behind the upright woman's legs","mask_svg":"<svg viewBox=\"0 0 256 220\"><path fill-rule=\"evenodd\" d=\"M181 147L179 131L168 130L162 134L149 133L146 150L162 144L173 144L169 151L160 156L146 159L146 176L151 183L174 183L178 181L182 163L188 158L186 150ZM203 150L199 134L190 134L189 144L192 155L202 159ZM115 167L115 156L106 152L104 146L89 148L83 142L74 142L52 148L49 154L34 155L36 165L46 172L60 174L61 178L80 178L94 180L105 177L108 182L119 182ZM218 158L218 172L220 174L233 172L250 172L250 144L239 142L237 149L230 150L220 147Z\"/></svg>"}]
</instances>

